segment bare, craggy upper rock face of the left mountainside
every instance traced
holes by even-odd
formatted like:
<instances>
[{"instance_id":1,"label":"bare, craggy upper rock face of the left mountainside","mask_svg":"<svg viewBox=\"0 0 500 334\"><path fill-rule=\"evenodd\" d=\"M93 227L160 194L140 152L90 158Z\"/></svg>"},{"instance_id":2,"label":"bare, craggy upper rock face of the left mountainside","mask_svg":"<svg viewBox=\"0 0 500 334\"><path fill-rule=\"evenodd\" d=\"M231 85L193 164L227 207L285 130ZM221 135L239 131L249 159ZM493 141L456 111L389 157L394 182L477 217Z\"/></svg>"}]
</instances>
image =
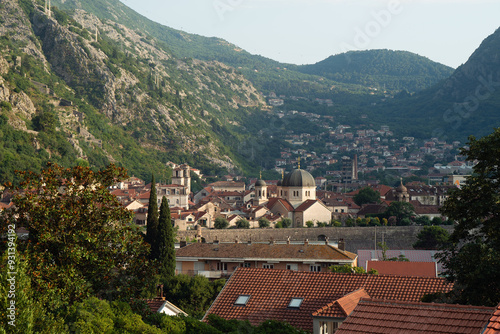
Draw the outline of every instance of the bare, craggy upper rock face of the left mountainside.
<instances>
[{"instance_id":1,"label":"bare, craggy upper rock face of the left mountainside","mask_svg":"<svg viewBox=\"0 0 500 334\"><path fill-rule=\"evenodd\" d=\"M0 101L12 107L8 115L12 126L36 136L31 121L41 115L37 105L52 105L57 130L78 156L86 157L80 146L87 143L88 149L102 150L108 161L120 162L122 145L112 142L119 138L94 145L102 139L102 126L74 118L81 111L71 101L78 101L80 107L81 102L88 103L105 115L116 133L134 138L144 149L141 154L190 152L219 166L236 167L222 153L225 138L214 126L241 127L241 118L248 117L250 109L265 105L242 74L216 61L176 58L145 32L83 10L67 14L53 8L49 15L36 2L31 7L23 3L21 8L17 1L0 2L0 38L13 48L3 50L0 57L0 73L6 78L0 77ZM29 65L16 64L25 58ZM60 83L49 78L54 74ZM14 92L14 78L31 88ZM72 106L59 106L61 98Z\"/></svg>"}]
</instances>

